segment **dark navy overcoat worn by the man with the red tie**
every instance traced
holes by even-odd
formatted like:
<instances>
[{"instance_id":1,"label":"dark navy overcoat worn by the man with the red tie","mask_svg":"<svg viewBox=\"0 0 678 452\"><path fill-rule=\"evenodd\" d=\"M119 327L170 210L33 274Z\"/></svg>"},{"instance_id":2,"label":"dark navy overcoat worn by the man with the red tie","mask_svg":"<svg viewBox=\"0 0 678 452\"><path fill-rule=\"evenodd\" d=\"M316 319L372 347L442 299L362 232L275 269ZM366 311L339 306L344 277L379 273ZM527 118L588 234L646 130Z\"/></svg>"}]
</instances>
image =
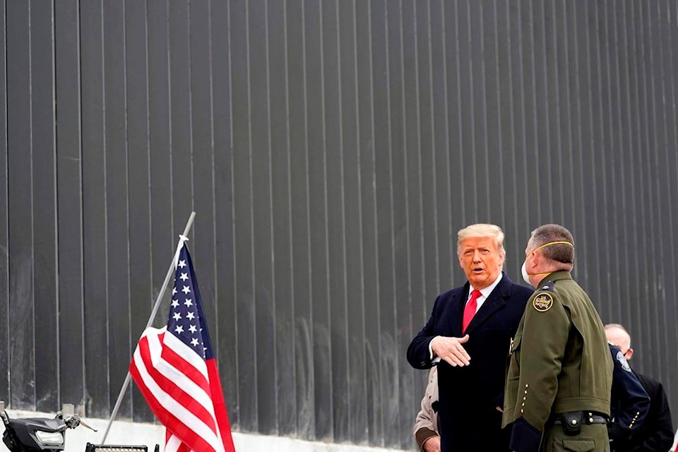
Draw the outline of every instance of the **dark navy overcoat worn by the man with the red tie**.
<instances>
[{"instance_id":1,"label":"dark navy overcoat worn by the man with the red tie","mask_svg":"<svg viewBox=\"0 0 678 452\"><path fill-rule=\"evenodd\" d=\"M469 283L436 298L431 318L408 347L416 369L432 366L429 343L436 335L460 338ZM438 364L439 426L443 452L507 451L509 436L501 431L506 357L533 289L514 284L506 274L477 311L464 347L470 365Z\"/></svg>"}]
</instances>

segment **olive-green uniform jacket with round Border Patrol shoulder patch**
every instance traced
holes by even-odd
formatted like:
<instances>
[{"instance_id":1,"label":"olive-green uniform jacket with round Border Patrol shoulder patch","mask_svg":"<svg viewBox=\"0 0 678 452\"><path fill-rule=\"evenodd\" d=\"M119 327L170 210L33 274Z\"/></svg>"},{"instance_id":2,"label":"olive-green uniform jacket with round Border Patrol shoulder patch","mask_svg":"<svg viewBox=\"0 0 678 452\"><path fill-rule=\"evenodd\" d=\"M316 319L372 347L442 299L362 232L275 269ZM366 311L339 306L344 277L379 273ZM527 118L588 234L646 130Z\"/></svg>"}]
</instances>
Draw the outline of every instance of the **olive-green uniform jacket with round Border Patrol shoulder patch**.
<instances>
[{"instance_id":1,"label":"olive-green uniform jacket with round Border Patrol shoulder patch","mask_svg":"<svg viewBox=\"0 0 678 452\"><path fill-rule=\"evenodd\" d=\"M548 275L528 300L509 353L502 427L511 450L537 451L551 415L609 415L612 357L595 307L569 271Z\"/></svg>"}]
</instances>

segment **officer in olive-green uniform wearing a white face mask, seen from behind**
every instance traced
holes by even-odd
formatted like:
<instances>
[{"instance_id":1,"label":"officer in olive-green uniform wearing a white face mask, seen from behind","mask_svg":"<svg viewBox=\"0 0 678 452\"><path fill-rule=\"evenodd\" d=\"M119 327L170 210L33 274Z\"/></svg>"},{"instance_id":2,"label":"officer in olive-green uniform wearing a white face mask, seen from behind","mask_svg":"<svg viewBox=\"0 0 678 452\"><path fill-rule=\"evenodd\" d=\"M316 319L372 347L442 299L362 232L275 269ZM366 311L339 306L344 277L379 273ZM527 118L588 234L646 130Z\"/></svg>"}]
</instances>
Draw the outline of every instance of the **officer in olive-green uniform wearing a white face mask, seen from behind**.
<instances>
[{"instance_id":1,"label":"officer in olive-green uniform wearing a white face mask, seen from behind","mask_svg":"<svg viewBox=\"0 0 678 452\"><path fill-rule=\"evenodd\" d=\"M532 232L522 273L536 290L511 343L502 420L513 451L609 451L612 357L573 264L569 230Z\"/></svg>"}]
</instances>

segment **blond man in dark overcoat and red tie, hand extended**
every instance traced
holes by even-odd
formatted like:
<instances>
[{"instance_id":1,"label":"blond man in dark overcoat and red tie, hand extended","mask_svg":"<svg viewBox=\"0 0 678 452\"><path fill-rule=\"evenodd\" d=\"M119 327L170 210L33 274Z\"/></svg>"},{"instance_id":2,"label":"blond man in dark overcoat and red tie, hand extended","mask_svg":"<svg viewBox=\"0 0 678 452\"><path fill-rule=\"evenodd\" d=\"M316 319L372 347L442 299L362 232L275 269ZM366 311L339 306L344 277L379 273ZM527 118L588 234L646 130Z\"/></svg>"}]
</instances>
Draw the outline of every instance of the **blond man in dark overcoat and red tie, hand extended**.
<instances>
[{"instance_id":1,"label":"blond man in dark overcoat and red tie, hand extended","mask_svg":"<svg viewBox=\"0 0 678 452\"><path fill-rule=\"evenodd\" d=\"M417 369L437 363L443 452L507 451L501 431L506 356L532 290L502 271L504 232L465 227L457 256L467 282L439 295L431 317L408 347Z\"/></svg>"}]
</instances>

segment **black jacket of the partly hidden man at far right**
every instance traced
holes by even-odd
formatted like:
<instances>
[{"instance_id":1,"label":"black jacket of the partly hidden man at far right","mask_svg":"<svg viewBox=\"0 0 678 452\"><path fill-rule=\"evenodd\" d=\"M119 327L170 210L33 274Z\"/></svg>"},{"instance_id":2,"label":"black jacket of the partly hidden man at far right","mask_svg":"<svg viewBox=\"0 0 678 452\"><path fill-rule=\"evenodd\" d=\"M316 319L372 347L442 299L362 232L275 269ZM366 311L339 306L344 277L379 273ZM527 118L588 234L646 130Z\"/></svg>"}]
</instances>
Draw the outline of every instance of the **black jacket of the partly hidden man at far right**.
<instances>
[{"instance_id":1,"label":"black jacket of the partly hidden man at far right","mask_svg":"<svg viewBox=\"0 0 678 452\"><path fill-rule=\"evenodd\" d=\"M650 410L629 441L615 444L614 451L666 452L673 444L671 410L662 383L638 374L643 388L650 396Z\"/></svg>"}]
</instances>

